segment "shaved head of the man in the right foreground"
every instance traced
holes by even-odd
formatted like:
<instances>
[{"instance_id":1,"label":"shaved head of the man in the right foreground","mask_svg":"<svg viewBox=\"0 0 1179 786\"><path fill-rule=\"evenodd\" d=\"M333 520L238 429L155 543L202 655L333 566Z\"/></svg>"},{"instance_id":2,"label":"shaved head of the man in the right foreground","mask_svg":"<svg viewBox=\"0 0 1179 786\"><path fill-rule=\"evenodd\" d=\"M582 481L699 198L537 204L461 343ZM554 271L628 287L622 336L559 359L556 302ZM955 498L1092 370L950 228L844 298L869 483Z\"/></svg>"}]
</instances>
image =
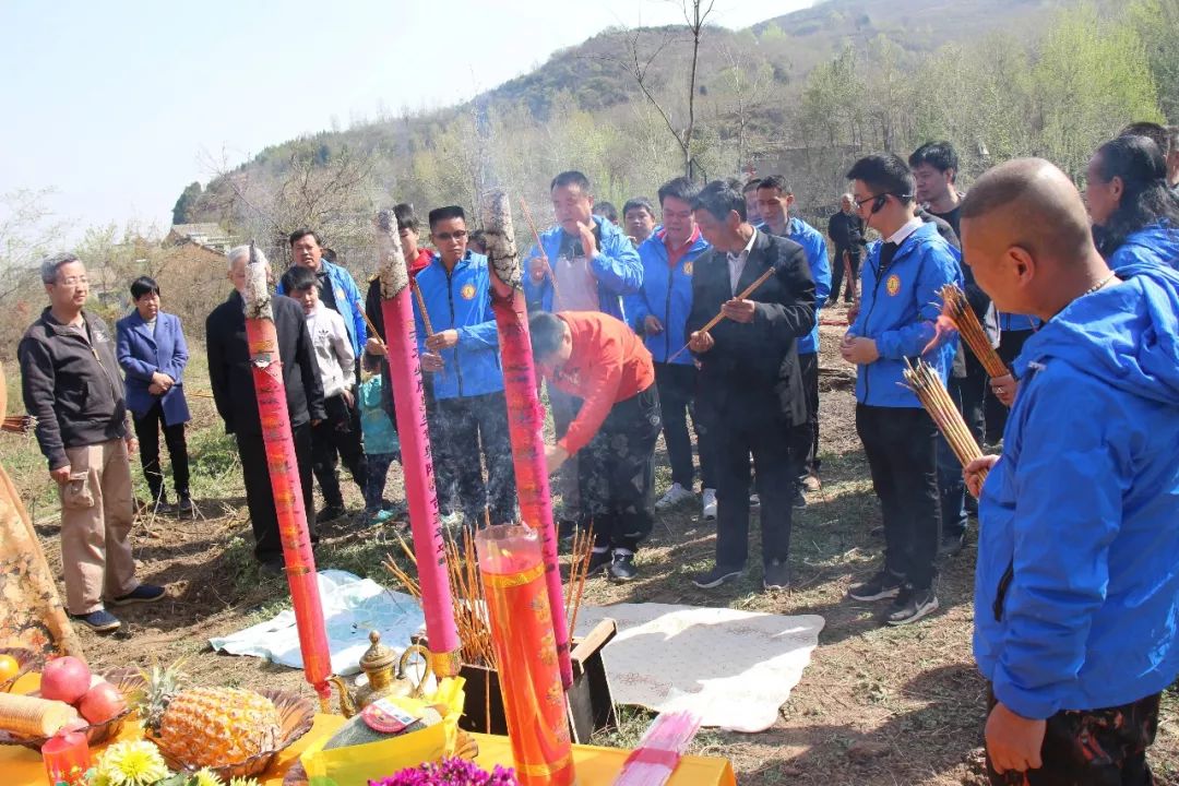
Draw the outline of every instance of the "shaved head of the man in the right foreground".
<instances>
[{"instance_id":1,"label":"shaved head of the man in the right foreground","mask_svg":"<svg viewBox=\"0 0 1179 786\"><path fill-rule=\"evenodd\" d=\"M1041 158L986 172L961 222L963 262L1000 311L1050 318L1109 272L1076 186Z\"/></svg>"}]
</instances>

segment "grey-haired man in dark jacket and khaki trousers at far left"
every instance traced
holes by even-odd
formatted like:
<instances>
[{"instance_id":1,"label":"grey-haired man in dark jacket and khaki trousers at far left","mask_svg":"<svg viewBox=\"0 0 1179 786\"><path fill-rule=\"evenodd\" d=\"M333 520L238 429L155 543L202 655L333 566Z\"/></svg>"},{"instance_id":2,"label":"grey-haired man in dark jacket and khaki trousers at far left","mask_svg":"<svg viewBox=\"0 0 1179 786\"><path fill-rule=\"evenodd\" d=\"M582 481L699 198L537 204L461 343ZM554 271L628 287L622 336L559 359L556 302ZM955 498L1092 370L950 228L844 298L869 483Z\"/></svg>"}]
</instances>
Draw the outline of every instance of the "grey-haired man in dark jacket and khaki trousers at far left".
<instances>
[{"instance_id":1,"label":"grey-haired man in dark jacket and khaki trousers at far left","mask_svg":"<svg viewBox=\"0 0 1179 786\"><path fill-rule=\"evenodd\" d=\"M119 627L105 601L120 606L164 597L164 588L136 581L131 556L134 493L114 338L84 310L86 266L71 253L41 262L50 306L20 341L25 408L37 418L37 441L61 498L61 563L70 615L97 632Z\"/></svg>"}]
</instances>

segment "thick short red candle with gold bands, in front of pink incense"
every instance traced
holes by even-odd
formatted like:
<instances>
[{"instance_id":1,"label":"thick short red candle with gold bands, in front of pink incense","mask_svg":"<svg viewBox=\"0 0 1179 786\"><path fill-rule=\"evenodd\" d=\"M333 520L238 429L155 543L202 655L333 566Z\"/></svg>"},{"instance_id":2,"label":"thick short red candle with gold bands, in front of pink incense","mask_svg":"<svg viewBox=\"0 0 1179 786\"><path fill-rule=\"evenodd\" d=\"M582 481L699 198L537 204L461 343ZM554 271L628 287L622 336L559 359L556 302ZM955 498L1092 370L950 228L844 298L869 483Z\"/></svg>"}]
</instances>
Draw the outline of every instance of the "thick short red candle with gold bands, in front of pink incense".
<instances>
[{"instance_id":1,"label":"thick short red candle with gold bands, in front of pink incense","mask_svg":"<svg viewBox=\"0 0 1179 786\"><path fill-rule=\"evenodd\" d=\"M519 524L487 527L475 548L516 777L523 786L575 784L540 535Z\"/></svg>"}]
</instances>

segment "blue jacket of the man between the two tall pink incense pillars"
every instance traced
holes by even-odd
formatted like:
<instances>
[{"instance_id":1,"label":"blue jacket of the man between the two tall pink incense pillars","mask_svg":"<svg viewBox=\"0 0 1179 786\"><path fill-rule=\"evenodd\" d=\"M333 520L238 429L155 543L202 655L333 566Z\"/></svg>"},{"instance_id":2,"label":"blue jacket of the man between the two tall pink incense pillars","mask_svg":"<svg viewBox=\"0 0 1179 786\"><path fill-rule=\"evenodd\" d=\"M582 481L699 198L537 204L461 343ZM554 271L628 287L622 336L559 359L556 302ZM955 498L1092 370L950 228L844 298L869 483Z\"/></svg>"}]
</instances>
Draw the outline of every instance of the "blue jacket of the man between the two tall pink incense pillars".
<instances>
[{"instance_id":1,"label":"blue jacket of the man between the two tall pink incense pillars","mask_svg":"<svg viewBox=\"0 0 1179 786\"><path fill-rule=\"evenodd\" d=\"M500 370L500 339L492 313L490 277L487 257L467 252L447 273L437 255L415 279L430 315L435 332L459 331L459 343L442 350L444 368L434 374L434 396L439 399L482 396L503 390ZM426 323L414 298L414 326L417 351L426 351Z\"/></svg>"}]
</instances>

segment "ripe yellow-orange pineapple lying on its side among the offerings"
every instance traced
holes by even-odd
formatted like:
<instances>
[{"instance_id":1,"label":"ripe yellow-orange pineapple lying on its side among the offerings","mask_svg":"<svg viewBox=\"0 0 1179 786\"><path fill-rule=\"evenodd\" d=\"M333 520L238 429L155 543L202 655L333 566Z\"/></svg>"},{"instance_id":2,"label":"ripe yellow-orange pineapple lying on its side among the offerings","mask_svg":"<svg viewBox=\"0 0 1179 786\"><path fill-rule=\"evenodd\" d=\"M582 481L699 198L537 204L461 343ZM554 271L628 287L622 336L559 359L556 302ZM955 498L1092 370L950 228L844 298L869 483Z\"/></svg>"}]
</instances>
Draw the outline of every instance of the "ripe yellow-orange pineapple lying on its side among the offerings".
<instances>
[{"instance_id":1,"label":"ripe yellow-orange pineapple lying on its side among the offerings","mask_svg":"<svg viewBox=\"0 0 1179 786\"><path fill-rule=\"evenodd\" d=\"M270 699L241 688L180 689L179 666L152 666L139 698L144 729L165 757L185 767L225 767L278 747Z\"/></svg>"}]
</instances>

